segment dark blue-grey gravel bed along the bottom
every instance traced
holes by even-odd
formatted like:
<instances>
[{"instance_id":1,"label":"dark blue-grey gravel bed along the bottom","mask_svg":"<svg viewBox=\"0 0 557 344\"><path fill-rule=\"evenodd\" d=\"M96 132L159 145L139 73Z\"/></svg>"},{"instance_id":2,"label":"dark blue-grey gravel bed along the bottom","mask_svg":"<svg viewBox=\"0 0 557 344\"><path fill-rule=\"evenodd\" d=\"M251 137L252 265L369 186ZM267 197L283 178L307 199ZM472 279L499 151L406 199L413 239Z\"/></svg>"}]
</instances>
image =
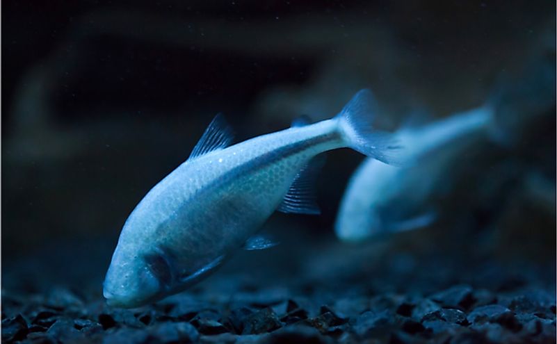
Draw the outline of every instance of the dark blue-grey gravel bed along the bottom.
<instances>
[{"instance_id":1,"label":"dark blue-grey gravel bed along the bottom","mask_svg":"<svg viewBox=\"0 0 557 344\"><path fill-rule=\"evenodd\" d=\"M399 259L400 260L400 259ZM389 264L386 264L389 265ZM405 279L396 266L369 279L273 286L216 275L207 286L140 309L111 309L98 293L3 290L2 342L13 343L555 343L551 288L494 268L487 288ZM420 269L423 269L421 267ZM444 269L431 281L451 279ZM487 271L487 272L486 272ZM491 272L490 272L491 271ZM491 278L485 277L498 271ZM425 275L425 272L424 274ZM462 279L469 279L465 273ZM407 286L402 287L407 283ZM474 282L476 283L476 282ZM326 286L326 287L325 287ZM382 287L382 286L385 286ZM390 286L390 287L389 287ZM391 292L388 289L402 290Z\"/></svg>"}]
</instances>

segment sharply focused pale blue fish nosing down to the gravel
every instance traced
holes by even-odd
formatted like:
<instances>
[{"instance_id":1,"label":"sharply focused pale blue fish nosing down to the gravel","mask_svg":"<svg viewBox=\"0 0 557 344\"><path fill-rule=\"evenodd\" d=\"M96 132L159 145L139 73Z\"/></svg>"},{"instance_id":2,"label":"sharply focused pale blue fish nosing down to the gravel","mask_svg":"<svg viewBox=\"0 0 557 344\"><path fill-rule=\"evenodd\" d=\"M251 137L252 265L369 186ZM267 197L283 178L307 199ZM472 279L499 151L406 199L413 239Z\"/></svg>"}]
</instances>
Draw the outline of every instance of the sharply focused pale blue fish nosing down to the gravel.
<instances>
[{"instance_id":1,"label":"sharply focused pale blue fish nosing down to the gravel","mask_svg":"<svg viewBox=\"0 0 557 344\"><path fill-rule=\"evenodd\" d=\"M157 183L127 218L103 284L109 306L134 308L186 290L236 250L275 243L258 235L277 210L318 214L312 181L319 154L348 147L387 164L402 149L371 125L376 103L360 90L336 116L232 145L217 115L189 158Z\"/></svg>"}]
</instances>

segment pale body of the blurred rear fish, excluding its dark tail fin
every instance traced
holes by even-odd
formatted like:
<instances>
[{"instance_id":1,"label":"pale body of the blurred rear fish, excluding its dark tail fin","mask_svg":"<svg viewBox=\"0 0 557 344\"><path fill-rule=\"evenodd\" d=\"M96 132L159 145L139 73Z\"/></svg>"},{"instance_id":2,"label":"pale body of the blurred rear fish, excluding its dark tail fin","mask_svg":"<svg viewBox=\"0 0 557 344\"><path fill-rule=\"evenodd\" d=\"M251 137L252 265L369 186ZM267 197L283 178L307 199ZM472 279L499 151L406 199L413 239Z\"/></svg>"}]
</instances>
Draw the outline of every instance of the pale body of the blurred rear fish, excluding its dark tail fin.
<instances>
[{"instance_id":1,"label":"pale body of the blurred rear fish, excluding its dark tail fin","mask_svg":"<svg viewBox=\"0 0 557 344\"><path fill-rule=\"evenodd\" d=\"M492 104L394 133L405 147L405 166L366 158L348 181L334 231L341 241L362 242L426 227L437 218L424 206L455 158L494 127Z\"/></svg>"}]
</instances>

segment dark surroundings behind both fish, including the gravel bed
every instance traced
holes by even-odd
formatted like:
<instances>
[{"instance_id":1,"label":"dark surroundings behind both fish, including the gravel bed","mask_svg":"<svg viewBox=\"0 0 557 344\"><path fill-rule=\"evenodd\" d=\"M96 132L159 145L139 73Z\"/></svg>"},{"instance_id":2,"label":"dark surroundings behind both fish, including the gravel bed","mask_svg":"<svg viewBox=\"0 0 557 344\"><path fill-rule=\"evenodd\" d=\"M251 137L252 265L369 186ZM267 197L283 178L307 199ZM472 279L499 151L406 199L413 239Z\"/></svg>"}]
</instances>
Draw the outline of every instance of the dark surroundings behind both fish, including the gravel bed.
<instances>
[{"instance_id":1,"label":"dark surroundings behind both fish, including the gravel bed","mask_svg":"<svg viewBox=\"0 0 557 344\"><path fill-rule=\"evenodd\" d=\"M554 343L555 7L4 1L2 341ZM322 215L264 227L281 245L239 252L157 304L104 304L124 220L216 113L243 140L330 117L367 87L392 130L415 110L479 106L499 85L531 120L459 159L430 201L433 226L339 243L332 224L362 156L333 151Z\"/></svg>"}]
</instances>

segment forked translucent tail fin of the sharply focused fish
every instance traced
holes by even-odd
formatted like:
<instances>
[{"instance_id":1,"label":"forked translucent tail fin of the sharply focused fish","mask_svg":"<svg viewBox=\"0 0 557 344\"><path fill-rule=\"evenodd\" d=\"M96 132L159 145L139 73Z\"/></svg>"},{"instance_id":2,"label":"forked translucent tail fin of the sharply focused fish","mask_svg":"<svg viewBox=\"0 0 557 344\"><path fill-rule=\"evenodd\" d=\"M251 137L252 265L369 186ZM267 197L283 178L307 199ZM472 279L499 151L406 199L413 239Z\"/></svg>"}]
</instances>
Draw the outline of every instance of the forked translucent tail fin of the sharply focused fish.
<instances>
[{"instance_id":1,"label":"forked translucent tail fin of the sharply focused fish","mask_svg":"<svg viewBox=\"0 0 557 344\"><path fill-rule=\"evenodd\" d=\"M373 130L371 122L377 112L370 90L360 90L344 106L337 118L346 145L366 156L389 165L401 165L401 146L390 133Z\"/></svg>"}]
</instances>

